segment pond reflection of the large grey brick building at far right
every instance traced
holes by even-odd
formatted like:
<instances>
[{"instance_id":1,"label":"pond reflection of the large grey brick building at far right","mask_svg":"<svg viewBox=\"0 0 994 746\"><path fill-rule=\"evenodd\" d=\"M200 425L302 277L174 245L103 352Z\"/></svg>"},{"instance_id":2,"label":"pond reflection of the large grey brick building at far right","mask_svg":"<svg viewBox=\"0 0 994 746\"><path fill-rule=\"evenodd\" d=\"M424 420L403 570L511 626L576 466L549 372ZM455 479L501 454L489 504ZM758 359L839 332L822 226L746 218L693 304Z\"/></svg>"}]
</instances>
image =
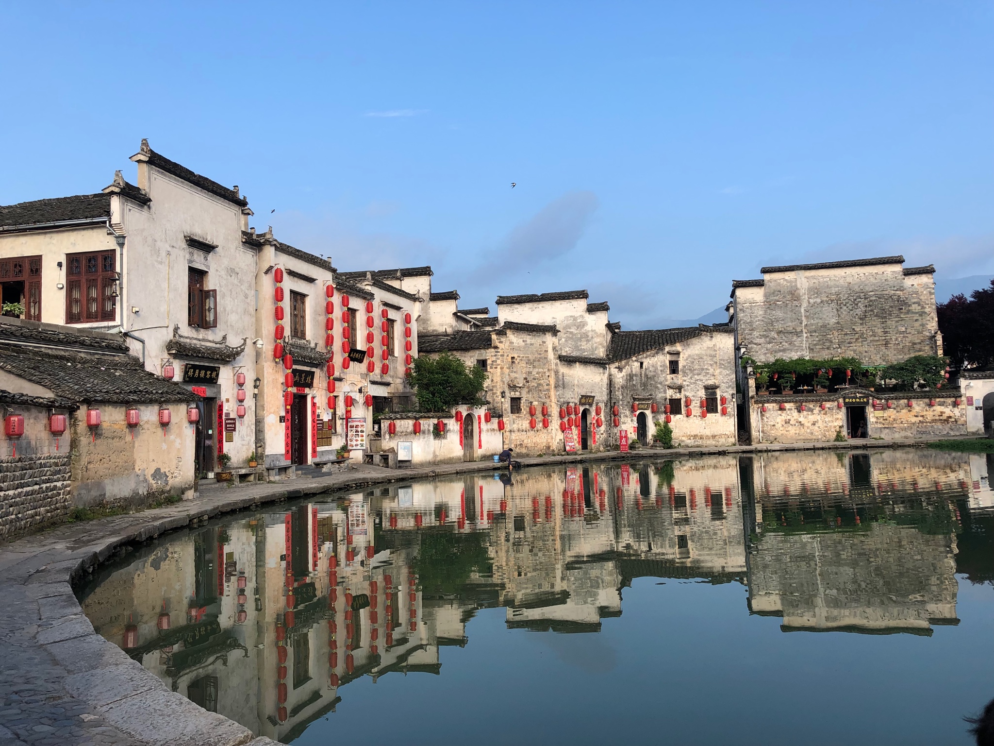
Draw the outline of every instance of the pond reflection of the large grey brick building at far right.
<instances>
[{"instance_id":1,"label":"pond reflection of the large grey brick building at far right","mask_svg":"<svg viewBox=\"0 0 994 746\"><path fill-rule=\"evenodd\" d=\"M744 460L757 485L753 613L781 616L787 631L927 634L957 623L949 498L966 485L962 455L814 454L806 466L783 456Z\"/></svg>"}]
</instances>

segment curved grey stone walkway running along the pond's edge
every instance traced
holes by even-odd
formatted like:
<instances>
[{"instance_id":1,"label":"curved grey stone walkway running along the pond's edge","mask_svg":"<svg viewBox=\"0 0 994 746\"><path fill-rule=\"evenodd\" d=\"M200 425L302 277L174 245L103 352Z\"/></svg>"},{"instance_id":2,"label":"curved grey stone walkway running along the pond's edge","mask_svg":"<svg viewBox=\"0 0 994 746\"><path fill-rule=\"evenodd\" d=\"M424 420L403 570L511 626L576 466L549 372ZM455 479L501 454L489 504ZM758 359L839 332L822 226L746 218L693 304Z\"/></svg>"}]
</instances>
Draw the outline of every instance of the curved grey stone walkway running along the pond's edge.
<instances>
[{"instance_id":1,"label":"curved grey stone walkway running along the pond's edge","mask_svg":"<svg viewBox=\"0 0 994 746\"><path fill-rule=\"evenodd\" d=\"M525 466L681 458L712 454L910 446L870 441L640 450L522 459ZM412 478L493 470L489 462L411 469L356 466L315 478L239 486L204 484L199 496L167 507L68 523L0 544L0 746L141 744L266 746L247 728L170 691L117 646L93 632L73 594L84 572L191 521L267 502L334 489Z\"/></svg>"}]
</instances>

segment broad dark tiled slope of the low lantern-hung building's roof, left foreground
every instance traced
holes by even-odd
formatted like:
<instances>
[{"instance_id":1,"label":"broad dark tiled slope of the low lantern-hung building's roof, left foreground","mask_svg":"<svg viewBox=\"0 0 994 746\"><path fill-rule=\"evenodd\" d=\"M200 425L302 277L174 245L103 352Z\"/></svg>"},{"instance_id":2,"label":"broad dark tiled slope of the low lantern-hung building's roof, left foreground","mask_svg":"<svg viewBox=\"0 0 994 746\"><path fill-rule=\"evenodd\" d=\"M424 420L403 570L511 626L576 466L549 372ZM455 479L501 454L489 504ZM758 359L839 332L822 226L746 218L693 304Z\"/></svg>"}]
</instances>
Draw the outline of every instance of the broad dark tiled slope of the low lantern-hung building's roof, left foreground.
<instances>
[{"instance_id":1,"label":"broad dark tiled slope of the low lantern-hung building's roof, left foreground","mask_svg":"<svg viewBox=\"0 0 994 746\"><path fill-rule=\"evenodd\" d=\"M133 355L42 350L0 342L0 370L78 403L195 402L179 384L153 375Z\"/></svg>"}]
</instances>

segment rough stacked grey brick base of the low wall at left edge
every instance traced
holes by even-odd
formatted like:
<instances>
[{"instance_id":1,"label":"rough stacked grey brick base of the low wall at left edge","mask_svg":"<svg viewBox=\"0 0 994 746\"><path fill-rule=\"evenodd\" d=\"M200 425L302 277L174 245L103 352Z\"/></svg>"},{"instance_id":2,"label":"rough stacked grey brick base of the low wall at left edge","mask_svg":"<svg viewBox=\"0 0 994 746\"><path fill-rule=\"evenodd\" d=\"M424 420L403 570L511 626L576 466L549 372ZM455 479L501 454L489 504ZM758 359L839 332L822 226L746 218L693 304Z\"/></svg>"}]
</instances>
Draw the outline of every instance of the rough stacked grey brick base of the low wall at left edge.
<instances>
[{"instance_id":1,"label":"rough stacked grey brick base of the low wall at left edge","mask_svg":"<svg viewBox=\"0 0 994 746\"><path fill-rule=\"evenodd\" d=\"M0 537L62 520L72 506L68 453L0 460Z\"/></svg>"}]
</instances>

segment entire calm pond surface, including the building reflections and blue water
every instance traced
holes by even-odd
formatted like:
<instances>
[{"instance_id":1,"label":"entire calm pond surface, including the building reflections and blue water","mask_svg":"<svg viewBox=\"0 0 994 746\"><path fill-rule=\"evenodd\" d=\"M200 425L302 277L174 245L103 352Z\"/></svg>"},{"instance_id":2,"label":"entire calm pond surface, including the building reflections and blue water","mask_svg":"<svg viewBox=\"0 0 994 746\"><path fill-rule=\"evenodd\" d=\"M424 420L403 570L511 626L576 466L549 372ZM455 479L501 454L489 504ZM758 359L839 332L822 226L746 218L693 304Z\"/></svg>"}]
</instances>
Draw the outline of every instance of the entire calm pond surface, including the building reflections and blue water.
<instances>
[{"instance_id":1,"label":"entire calm pond surface, including the building reflections and blue water","mask_svg":"<svg viewBox=\"0 0 994 746\"><path fill-rule=\"evenodd\" d=\"M329 493L165 537L81 600L287 743L968 744L992 472L808 452Z\"/></svg>"}]
</instances>

